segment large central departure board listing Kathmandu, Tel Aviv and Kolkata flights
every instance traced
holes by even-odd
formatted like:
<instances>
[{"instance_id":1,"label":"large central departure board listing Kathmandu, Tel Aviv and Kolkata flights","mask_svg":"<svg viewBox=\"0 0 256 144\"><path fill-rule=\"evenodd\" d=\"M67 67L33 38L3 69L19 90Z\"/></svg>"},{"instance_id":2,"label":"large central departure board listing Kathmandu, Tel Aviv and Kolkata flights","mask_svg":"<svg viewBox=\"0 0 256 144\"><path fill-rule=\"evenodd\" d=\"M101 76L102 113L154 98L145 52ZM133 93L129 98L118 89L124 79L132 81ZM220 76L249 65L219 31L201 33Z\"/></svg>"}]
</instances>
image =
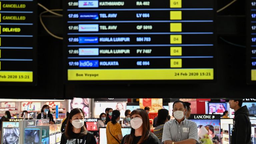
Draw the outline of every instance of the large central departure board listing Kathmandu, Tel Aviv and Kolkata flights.
<instances>
[{"instance_id":1,"label":"large central departure board listing Kathmandu, Tel Aviv and Kolkata flights","mask_svg":"<svg viewBox=\"0 0 256 144\"><path fill-rule=\"evenodd\" d=\"M66 0L66 81L214 80L215 0Z\"/></svg>"}]
</instances>

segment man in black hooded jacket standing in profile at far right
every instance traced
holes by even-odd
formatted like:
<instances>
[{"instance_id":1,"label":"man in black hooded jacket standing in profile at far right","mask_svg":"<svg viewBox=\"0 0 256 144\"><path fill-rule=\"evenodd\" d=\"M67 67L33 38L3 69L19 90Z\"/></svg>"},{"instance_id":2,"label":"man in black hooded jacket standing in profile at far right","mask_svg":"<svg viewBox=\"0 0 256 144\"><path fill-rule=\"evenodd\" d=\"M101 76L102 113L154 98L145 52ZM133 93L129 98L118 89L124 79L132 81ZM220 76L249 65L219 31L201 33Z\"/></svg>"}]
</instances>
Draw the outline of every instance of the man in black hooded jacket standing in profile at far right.
<instances>
[{"instance_id":1,"label":"man in black hooded jacket standing in profile at far right","mask_svg":"<svg viewBox=\"0 0 256 144\"><path fill-rule=\"evenodd\" d=\"M251 144L251 122L247 106L243 100L229 100L229 107L235 110L231 144Z\"/></svg>"}]
</instances>

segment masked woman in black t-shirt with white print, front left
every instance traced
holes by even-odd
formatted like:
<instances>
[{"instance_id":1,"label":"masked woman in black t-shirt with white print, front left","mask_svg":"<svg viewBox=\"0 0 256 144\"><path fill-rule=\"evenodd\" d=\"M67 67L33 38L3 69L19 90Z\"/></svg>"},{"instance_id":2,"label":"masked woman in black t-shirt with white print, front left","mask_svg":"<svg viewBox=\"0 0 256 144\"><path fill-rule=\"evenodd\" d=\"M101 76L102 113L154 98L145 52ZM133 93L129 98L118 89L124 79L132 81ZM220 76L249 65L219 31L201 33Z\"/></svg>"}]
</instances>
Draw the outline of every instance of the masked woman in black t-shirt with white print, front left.
<instances>
[{"instance_id":1,"label":"masked woman in black t-shirt with white print, front left","mask_svg":"<svg viewBox=\"0 0 256 144\"><path fill-rule=\"evenodd\" d=\"M61 136L60 144L96 144L95 137L84 125L84 112L80 108L70 111L66 131Z\"/></svg>"}]
</instances>

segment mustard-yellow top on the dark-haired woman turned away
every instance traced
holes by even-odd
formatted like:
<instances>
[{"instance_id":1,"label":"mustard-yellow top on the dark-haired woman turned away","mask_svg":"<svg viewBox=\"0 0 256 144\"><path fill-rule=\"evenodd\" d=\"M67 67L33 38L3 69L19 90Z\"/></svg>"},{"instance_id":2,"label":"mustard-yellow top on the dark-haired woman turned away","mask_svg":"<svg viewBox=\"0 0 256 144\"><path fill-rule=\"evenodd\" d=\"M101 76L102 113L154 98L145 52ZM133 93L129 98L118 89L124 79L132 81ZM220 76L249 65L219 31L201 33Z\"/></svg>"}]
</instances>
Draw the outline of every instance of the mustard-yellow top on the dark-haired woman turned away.
<instances>
[{"instance_id":1,"label":"mustard-yellow top on the dark-haired woman turned away","mask_svg":"<svg viewBox=\"0 0 256 144\"><path fill-rule=\"evenodd\" d=\"M110 134L109 131L116 139ZM121 125L119 123L113 124L111 121L108 122L107 127L106 127L106 134L107 134L107 144L120 144L121 143L121 141L118 138L118 135L122 135Z\"/></svg>"}]
</instances>

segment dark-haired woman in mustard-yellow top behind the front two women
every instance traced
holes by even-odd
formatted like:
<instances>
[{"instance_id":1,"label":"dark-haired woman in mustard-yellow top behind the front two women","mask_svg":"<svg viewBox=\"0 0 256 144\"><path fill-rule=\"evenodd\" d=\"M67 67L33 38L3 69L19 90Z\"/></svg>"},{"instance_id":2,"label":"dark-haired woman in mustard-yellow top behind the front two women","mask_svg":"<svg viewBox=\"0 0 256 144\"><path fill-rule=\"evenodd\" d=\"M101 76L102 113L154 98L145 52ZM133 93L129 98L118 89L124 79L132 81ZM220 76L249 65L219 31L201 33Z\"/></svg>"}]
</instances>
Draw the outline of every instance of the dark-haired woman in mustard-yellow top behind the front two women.
<instances>
[{"instance_id":1,"label":"dark-haired woman in mustard-yellow top behind the front two women","mask_svg":"<svg viewBox=\"0 0 256 144\"><path fill-rule=\"evenodd\" d=\"M106 127L107 144L120 144L123 139L121 125L120 125L120 112L114 110L112 112L111 121L108 122Z\"/></svg>"}]
</instances>

